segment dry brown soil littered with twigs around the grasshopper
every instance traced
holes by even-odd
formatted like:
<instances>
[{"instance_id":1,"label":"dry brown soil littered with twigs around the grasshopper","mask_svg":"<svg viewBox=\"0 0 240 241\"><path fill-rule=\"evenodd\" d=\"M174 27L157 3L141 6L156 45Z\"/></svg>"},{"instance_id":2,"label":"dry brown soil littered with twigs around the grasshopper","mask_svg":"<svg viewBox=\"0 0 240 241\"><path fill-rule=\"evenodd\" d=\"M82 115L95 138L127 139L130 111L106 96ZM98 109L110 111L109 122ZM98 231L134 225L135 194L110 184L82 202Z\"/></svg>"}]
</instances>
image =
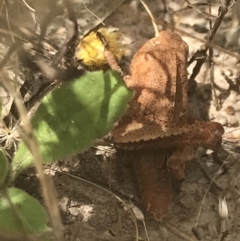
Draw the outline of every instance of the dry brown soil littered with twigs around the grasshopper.
<instances>
[{"instance_id":1,"label":"dry brown soil littered with twigs around the grasshopper","mask_svg":"<svg viewBox=\"0 0 240 241\"><path fill-rule=\"evenodd\" d=\"M154 36L151 20L138 1L70 2L74 4L80 35L96 27L101 22L99 19L107 27L121 31L122 44L129 52L123 61L126 71L133 54ZM145 2L155 16L159 29L166 27L163 1ZM184 6L184 1L166 2L169 2L167 6L172 11ZM47 3L42 1L38 6L34 1L29 1L29 4L41 13L41 21L48 11ZM214 84L211 84L206 63L195 79L195 87L189 91L189 108L193 118L218 121L225 128L223 149L219 153L220 163L213 160L211 151L198 148L194 159L188 164L185 179L173 181L174 200L160 222L155 221L141 206L131 165L116 162L116 153L112 148L98 145L83 154L46 166L45 170L52 176L57 190L66 240L130 241L147 240L148 237L152 241L240 239L240 79L236 57L232 56L240 53L239 38L235 36L237 28L234 25L234 21L240 22L240 18L237 18L240 15L240 4L237 4L236 14L231 9L214 40L214 44L228 51L214 48ZM213 15L218 14L217 9L213 8ZM32 19L29 13L21 15L21 18L24 23ZM59 8L54 11L46 34L46 38L55 46L61 46L66 37L65 19L66 13L59 1ZM180 35L189 45L190 58L209 32L208 20L203 14L191 9L174 15L174 21ZM230 35L234 36L231 38ZM4 44L1 49L5 51ZM188 70L190 75L193 66ZM20 76L23 80L31 77L24 67L22 72L25 73ZM212 87L216 90L216 97ZM219 109L216 100L220 102ZM43 202L33 170L21 174L16 186ZM225 219L219 215L219 204L221 206L223 199L228 207Z\"/></svg>"}]
</instances>

